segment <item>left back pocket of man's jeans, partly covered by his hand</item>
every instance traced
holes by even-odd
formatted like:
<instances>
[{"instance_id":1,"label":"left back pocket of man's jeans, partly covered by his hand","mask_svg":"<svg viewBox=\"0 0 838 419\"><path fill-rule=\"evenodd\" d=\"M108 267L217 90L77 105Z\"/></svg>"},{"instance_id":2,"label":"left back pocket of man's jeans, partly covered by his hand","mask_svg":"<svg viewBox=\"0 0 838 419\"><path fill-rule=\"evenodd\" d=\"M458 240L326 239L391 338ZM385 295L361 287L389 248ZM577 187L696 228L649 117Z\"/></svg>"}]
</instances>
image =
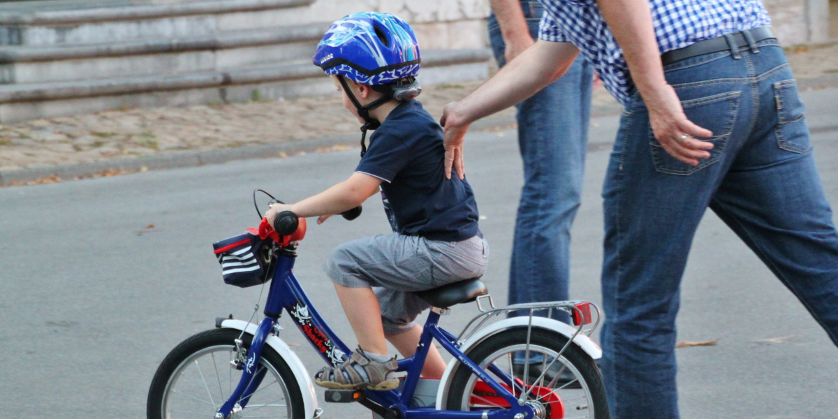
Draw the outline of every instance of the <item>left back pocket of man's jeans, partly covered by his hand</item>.
<instances>
[{"instance_id":1,"label":"left back pocket of man's jeans, partly covered by his hand","mask_svg":"<svg viewBox=\"0 0 838 419\"><path fill-rule=\"evenodd\" d=\"M649 127L649 147L652 152L654 169L660 173L686 176L719 161L727 145L727 139L730 137L733 126L736 123L741 96L741 91L729 91L720 95L681 101L681 107L684 108L687 119L713 133L713 136L708 138L696 137L696 139L701 141L713 143L713 148L710 150L710 158L700 159L698 166L683 163L670 156L670 153L666 153L664 147L654 137L652 128Z\"/></svg>"}]
</instances>

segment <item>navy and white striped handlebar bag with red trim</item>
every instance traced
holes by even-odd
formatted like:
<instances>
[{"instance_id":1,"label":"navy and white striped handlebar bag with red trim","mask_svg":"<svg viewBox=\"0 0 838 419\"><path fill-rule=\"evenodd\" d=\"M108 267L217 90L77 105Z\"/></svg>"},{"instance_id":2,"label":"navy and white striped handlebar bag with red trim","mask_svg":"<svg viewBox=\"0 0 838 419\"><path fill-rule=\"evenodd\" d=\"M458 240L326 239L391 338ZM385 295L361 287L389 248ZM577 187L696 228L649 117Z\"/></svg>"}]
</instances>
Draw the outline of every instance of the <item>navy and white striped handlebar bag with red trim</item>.
<instances>
[{"instance_id":1,"label":"navy and white striped handlebar bag with red trim","mask_svg":"<svg viewBox=\"0 0 838 419\"><path fill-rule=\"evenodd\" d=\"M259 235L251 233L213 243L225 283L245 288L268 280L268 261L261 255L263 243Z\"/></svg>"}]
</instances>

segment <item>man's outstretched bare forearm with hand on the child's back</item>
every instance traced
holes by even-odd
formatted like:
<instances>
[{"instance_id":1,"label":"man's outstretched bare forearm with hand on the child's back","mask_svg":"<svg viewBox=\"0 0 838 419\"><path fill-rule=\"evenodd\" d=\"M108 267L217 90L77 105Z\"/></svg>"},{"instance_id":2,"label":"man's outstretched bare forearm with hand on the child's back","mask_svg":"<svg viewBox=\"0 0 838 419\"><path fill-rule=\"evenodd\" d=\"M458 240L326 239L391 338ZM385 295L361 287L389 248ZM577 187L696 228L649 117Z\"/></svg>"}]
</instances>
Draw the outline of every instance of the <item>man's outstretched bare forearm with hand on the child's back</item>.
<instances>
[{"instance_id":1,"label":"man's outstretched bare forearm with hand on the child's back","mask_svg":"<svg viewBox=\"0 0 838 419\"><path fill-rule=\"evenodd\" d=\"M451 178L452 167L461 179L465 176L463 137L472 122L535 95L564 75L578 54L569 42L539 39L462 101L447 104L440 120L444 127L445 177Z\"/></svg>"}]
</instances>

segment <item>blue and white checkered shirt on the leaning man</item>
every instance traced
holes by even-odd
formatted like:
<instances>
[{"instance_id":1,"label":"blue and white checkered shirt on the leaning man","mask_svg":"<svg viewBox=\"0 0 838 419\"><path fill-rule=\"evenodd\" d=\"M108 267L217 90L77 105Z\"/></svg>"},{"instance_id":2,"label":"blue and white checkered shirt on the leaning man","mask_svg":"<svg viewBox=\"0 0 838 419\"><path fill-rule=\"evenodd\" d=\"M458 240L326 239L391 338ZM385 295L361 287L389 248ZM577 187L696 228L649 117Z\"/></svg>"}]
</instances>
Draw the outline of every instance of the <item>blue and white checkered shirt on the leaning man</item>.
<instances>
[{"instance_id":1,"label":"blue and white checkered shirt on the leaning man","mask_svg":"<svg viewBox=\"0 0 838 419\"><path fill-rule=\"evenodd\" d=\"M571 42L597 70L617 100L629 101L634 83L623 50L596 0L541 0L539 38ZM649 0L660 54L746 29L771 26L761 0Z\"/></svg>"}]
</instances>

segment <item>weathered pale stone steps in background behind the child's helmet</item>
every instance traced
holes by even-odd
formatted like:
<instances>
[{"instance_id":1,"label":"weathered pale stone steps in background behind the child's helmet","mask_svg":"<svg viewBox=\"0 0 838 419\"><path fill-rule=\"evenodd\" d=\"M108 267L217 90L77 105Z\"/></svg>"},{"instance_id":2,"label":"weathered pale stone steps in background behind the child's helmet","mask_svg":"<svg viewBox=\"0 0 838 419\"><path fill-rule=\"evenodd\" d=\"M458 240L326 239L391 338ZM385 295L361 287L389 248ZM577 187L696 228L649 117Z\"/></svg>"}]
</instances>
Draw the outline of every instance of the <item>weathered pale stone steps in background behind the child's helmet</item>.
<instances>
[{"instance_id":1,"label":"weathered pale stone steps in background behind the child's helmet","mask_svg":"<svg viewBox=\"0 0 838 419\"><path fill-rule=\"evenodd\" d=\"M331 0L330 0L331 1ZM126 107L323 95L323 0L0 3L0 123ZM423 83L488 75L484 49L423 49Z\"/></svg>"}]
</instances>

